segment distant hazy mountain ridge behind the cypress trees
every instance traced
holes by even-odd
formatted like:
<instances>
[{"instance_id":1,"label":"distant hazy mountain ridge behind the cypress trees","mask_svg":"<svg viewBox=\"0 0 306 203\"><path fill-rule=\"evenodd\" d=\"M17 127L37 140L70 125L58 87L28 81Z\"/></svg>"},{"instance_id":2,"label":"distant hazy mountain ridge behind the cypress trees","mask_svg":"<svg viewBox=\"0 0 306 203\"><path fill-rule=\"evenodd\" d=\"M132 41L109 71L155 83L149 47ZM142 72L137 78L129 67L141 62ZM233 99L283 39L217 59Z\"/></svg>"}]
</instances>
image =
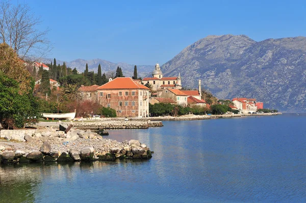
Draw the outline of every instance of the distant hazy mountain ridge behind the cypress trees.
<instances>
[{"instance_id":1,"label":"distant hazy mountain ridge behind the cypress trees","mask_svg":"<svg viewBox=\"0 0 306 203\"><path fill-rule=\"evenodd\" d=\"M54 59L43 59L41 60L43 63L50 64L53 63ZM64 61L56 60L57 64L63 64ZM77 68L79 72L84 72L86 63L88 64L88 70L94 71L95 73L98 71L98 65L101 65L102 73L110 71L116 71L117 67L119 66L122 69L123 75L126 77L132 77L134 74L134 66L131 64L126 63L112 63L109 61L105 61L102 59L93 59L93 60L84 60L84 59L77 59L71 62L65 62L67 67L70 68ZM145 75L149 74L154 70L155 66L149 65L137 65L137 73L138 77L144 77Z\"/></svg>"}]
</instances>

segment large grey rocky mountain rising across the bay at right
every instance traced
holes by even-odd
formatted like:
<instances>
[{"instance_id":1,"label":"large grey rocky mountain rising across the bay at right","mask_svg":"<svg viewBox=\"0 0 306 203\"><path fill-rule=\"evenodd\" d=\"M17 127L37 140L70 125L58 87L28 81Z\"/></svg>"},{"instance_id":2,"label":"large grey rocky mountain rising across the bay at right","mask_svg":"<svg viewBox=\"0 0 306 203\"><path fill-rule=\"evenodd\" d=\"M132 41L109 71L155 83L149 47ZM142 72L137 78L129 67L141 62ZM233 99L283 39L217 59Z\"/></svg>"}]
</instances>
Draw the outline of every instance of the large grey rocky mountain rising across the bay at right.
<instances>
[{"instance_id":1,"label":"large grey rocky mountain rising across the bay at right","mask_svg":"<svg viewBox=\"0 0 306 203\"><path fill-rule=\"evenodd\" d=\"M182 85L202 80L219 99L256 98L264 108L306 111L306 38L256 42L245 35L208 36L162 66L164 76L181 72Z\"/></svg>"}]
</instances>

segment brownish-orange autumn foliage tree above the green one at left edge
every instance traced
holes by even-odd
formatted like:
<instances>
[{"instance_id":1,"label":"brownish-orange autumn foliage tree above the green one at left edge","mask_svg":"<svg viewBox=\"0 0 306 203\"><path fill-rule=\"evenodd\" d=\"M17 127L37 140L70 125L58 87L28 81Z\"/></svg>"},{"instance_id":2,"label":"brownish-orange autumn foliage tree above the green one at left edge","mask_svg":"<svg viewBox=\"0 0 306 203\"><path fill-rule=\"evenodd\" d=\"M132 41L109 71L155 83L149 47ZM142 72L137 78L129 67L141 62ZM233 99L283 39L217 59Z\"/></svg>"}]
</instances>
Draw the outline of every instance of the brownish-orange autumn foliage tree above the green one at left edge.
<instances>
[{"instance_id":1,"label":"brownish-orange autumn foliage tree above the green one at left edge","mask_svg":"<svg viewBox=\"0 0 306 203\"><path fill-rule=\"evenodd\" d=\"M9 45L0 44L0 72L19 83L20 92L31 90L31 74L25 69L17 54Z\"/></svg>"}]
</instances>

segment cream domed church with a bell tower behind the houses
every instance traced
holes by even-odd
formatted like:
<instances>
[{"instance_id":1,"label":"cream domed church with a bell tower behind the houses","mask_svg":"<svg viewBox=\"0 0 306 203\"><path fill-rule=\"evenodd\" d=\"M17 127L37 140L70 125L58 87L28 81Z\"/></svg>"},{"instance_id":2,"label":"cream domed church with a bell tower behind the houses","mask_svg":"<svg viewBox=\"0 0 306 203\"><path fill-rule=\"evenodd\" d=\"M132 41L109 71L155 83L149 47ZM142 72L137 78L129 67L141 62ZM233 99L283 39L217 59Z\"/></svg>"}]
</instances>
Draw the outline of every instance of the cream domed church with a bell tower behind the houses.
<instances>
[{"instance_id":1,"label":"cream domed church with a bell tower behind the houses","mask_svg":"<svg viewBox=\"0 0 306 203\"><path fill-rule=\"evenodd\" d=\"M153 86L152 90L157 91L158 89L182 89L181 75L177 77L163 77L162 70L159 64L155 65L155 70L152 72L152 77L145 77L142 79L142 83L149 83Z\"/></svg>"}]
</instances>

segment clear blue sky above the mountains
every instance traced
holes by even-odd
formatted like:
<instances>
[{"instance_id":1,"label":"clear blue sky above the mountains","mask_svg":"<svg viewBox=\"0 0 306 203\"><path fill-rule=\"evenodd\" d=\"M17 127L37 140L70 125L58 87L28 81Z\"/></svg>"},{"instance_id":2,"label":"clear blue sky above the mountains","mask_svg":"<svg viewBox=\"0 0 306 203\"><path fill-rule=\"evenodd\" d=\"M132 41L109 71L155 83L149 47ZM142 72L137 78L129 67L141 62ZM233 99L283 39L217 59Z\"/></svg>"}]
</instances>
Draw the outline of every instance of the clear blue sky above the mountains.
<instances>
[{"instance_id":1,"label":"clear blue sky above the mountains","mask_svg":"<svg viewBox=\"0 0 306 203\"><path fill-rule=\"evenodd\" d=\"M164 64L208 35L306 36L304 1L20 1L51 28L48 57Z\"/></svg>"}]
</instances>

